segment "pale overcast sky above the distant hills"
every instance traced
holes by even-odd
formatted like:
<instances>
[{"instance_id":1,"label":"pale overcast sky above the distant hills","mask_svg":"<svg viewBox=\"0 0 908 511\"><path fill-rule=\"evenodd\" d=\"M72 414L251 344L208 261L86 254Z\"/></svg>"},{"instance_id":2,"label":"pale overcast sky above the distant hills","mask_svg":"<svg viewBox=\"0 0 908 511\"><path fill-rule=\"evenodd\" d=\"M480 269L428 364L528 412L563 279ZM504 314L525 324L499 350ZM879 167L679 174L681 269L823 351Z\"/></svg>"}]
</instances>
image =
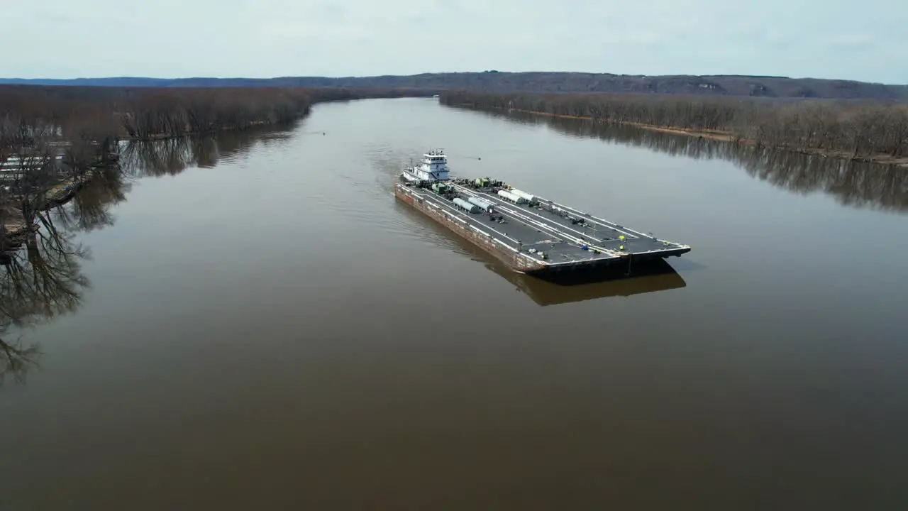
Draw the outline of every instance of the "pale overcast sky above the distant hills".
<instances>
[{"instance_id":1,"label":"pale overcast sky above the distant hills","mask_svg":"<svg viewBox=\"0 0 908 511\"><path fill-rule=\"evenodd\" d=\"M498 69L908 83L904 0L0 0L0 19L4 77Z\"/></svg>"}]
</instances>

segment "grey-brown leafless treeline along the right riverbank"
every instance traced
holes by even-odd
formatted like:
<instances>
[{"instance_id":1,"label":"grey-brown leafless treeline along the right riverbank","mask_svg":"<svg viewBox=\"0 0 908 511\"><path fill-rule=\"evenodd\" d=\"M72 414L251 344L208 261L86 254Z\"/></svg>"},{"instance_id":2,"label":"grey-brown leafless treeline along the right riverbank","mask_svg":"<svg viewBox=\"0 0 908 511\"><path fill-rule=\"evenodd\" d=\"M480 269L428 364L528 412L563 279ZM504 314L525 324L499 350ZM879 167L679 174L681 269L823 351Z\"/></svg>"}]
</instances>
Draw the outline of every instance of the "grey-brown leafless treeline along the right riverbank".
<instances>
[{"instance_id":1,"label":"grey-brown leafless treeline along the right riverbank","mask_svg":"<svg viewBox=\"0 0 908 511\"><path fill-rule=\"evenodd\" d=\"M908 157L908 105L684 95L448 91L446 105L518 109L727 135L758 147L850 158Z\"/></svg>"}]
</instances>

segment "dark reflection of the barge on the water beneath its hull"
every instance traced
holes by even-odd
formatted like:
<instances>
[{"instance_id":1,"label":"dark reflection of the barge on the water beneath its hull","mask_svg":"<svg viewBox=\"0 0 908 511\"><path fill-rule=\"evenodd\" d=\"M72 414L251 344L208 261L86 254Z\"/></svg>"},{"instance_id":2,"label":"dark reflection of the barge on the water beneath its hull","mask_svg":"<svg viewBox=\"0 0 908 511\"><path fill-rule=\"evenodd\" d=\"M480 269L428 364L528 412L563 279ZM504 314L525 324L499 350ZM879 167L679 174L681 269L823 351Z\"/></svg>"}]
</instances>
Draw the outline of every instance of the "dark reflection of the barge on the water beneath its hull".
<instances>
[{"instance_id":1,"label":"dark reflection of the barge on the water beneath its hull","mask_svg":"<svg viewBox=\"0 0 908 511\"><path fill-rule=\"evenodd\" d=\"M405 205L400 205L400 208L405 215L412 216L414 220L442 235L445 241L439 245L447 246L453 251L462 252L484 263L490 271L513 284L538 306L555 306L612 296L634 296L686 287L684 278L678 275L665 259L634 264L630 274L626 274L627 268L612 267L577 273L523 275L501 265L497 259L480 250L478 246L459 236L450 235L447 229L437 222L432 222L425 215L419 215Z\"/></svg>"}]
</instances>

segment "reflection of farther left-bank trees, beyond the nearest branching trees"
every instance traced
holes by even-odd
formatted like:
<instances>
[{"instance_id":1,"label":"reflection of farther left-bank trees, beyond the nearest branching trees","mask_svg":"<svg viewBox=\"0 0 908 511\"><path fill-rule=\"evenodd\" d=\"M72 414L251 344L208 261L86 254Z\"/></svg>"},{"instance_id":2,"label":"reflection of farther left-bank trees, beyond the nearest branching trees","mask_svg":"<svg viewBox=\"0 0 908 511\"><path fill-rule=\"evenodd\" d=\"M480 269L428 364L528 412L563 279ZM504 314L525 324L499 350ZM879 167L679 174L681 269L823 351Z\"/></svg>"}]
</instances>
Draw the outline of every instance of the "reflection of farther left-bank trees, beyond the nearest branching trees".
<instances>
[{"instance_id":1,"label":"reflection of farther left-bank trees, beyond the nearest branching trees","mask_svg":"<svg viewBox=\"0 0 908 511\"><path fill-rule=\"evenodd\" d=\"M192 166L211 168L225 158L249 153L258 145L282 145L291 137L285 129L260 128L187 135L123 144L120 165L130 175L177 175Z\"/></svg>"}]
</instances>

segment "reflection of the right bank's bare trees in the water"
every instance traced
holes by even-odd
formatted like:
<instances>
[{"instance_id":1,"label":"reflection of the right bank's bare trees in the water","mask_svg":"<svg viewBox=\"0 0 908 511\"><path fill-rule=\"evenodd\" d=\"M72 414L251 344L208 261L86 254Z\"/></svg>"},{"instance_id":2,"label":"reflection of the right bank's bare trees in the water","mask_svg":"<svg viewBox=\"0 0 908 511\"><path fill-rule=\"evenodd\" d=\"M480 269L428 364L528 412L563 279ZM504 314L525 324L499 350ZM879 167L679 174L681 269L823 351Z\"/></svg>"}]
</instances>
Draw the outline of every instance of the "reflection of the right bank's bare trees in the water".
<instances>
[{"instance_id":1,"label":"reflection of the right bank's bare trees in the water","mask_svg":"<svg viewBox=\"0 0 908 511\"><path fill-rule=\"evenodd\" d=\"M908 172L893 165L876 165L791 151L756 149L708 138L673 135L628 125L596 124L582 119L489 112L528 125L547 125L559 132L646 147L669 155L695 159L719 158L742 167L748 175L798 194L823 192L841 205L908 211Z\"/></svg>"}]
</instances>

